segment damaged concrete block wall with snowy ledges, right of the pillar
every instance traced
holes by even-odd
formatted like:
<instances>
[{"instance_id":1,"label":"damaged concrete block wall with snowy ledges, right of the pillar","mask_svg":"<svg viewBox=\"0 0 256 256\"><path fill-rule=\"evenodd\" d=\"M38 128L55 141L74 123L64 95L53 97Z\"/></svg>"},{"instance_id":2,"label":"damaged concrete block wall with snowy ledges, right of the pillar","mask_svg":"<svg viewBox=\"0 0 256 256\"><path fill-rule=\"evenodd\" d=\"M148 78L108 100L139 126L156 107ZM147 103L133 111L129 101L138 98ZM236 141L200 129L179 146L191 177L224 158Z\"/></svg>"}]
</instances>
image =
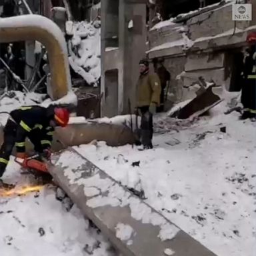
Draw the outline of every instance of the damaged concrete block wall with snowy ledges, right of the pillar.
<instances>
[{"instance_id":1,"label":"damaged concrete block wall with snowy ledges, right of the pillar","mask_svg":"<svg viewBox=\"0 0 256 256\"><path fill-rule=\"evenodd\" d=\"M256 0L251 3L254 7ZM189 87L199 76L207 81L212 79L230 91L239 89L231 85L231 80L234 82L232 69L235 69L232 59L239 59L246 46L247 33L255 29L256 20L235 23L231 3L220 3L213 8L205 12L201 9L190 18L191 14L181 15L179 20L182 18L183 23L174 23L175 19L164 21L149 31L150 49L147 53L151 59L165 57L165 67L172 76L171 90L175 92L175 101L181 100L181 89L177 87ZM233 58L234 54L237 57ZM177 74L177 71L183 71L181 81L174 80L181 73ZM183 91L183 99L193 95L195 93L191 94L187 89Z\"/></svg>"}]
</instances>

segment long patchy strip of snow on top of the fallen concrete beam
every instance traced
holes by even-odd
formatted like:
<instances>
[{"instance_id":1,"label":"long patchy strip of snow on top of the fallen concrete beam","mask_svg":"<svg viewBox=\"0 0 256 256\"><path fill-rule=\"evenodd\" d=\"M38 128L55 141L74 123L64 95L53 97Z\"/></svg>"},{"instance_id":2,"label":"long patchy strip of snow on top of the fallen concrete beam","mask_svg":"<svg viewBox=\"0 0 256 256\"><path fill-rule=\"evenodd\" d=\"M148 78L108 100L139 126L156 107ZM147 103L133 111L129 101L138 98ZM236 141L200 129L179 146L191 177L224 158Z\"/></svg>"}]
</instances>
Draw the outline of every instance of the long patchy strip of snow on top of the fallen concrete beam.
<instances>
[{"instance_id":1,"label":"long patchy strip of snow on top of the fallen concrete beam","mask_svg":"<svg viewBox=\"0 0 256 256\"><path fill-rule=\"evenodd\" d=\"M80 147L73 147L75 151L83 150ZM131 197L123 187L109 177L101 177L101 171L93 167L93 175L91 177L83 177L83 172L79 171L84 159L72 151L65 151L59 157L55 165L63 168L63 173L69 183L72 185L83 186L88 207L97 208L104 206L112 207L129 207L131 217L142 223L150 223L158 226L160 231L158 237L162 241L173 239L180 231L172 223L169 223L161 215L157 215L152 209L142 203L137 197Z\"/></svg>"}]
</instances>

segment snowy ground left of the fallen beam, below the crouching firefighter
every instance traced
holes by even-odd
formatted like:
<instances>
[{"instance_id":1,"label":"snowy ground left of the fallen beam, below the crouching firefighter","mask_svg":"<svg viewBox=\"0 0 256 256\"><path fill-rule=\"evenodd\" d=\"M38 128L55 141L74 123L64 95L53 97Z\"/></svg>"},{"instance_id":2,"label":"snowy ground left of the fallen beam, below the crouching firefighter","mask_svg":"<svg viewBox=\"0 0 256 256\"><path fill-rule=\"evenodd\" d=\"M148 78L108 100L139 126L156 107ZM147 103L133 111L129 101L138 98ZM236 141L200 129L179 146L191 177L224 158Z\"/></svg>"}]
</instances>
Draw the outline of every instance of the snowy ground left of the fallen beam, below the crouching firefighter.
<instances>
[{"instance_id":1,"label":"snowy ground left of the fallen beam, below the crouching firefighter","mask_svg":"<svg viewBox=\"0 0 256 256\"><path fill-rule=\"evenodd\" d=\"M13 161L3 179L28 185L31 177L21 175ZM55 198L55 187L23 196L0 197L1 256L115 256L109 243L89 225L77 207L67 211Z\"/></svg>"}]
</instances>

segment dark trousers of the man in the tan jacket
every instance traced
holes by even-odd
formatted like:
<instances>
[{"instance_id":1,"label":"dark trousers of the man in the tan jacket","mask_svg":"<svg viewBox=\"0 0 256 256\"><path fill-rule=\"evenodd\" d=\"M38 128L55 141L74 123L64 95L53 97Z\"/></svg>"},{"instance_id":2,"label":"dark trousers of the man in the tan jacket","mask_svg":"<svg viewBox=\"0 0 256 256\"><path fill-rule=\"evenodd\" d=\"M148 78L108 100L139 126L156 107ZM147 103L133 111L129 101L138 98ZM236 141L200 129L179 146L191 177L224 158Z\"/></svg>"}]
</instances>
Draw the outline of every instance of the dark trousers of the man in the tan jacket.
<instances>
[{"instance_id":1,"label":"dark trousers of the man in the tan jacket","mask_svg":"<svg viewBox=\"0 0 256 256\"><path fill-rule=\"evenodd\" d=\"M153 115L149 112L149 106L139 107L141 111L141 143L145 148L152 148Z\"/></svg>"}]
</instances>

